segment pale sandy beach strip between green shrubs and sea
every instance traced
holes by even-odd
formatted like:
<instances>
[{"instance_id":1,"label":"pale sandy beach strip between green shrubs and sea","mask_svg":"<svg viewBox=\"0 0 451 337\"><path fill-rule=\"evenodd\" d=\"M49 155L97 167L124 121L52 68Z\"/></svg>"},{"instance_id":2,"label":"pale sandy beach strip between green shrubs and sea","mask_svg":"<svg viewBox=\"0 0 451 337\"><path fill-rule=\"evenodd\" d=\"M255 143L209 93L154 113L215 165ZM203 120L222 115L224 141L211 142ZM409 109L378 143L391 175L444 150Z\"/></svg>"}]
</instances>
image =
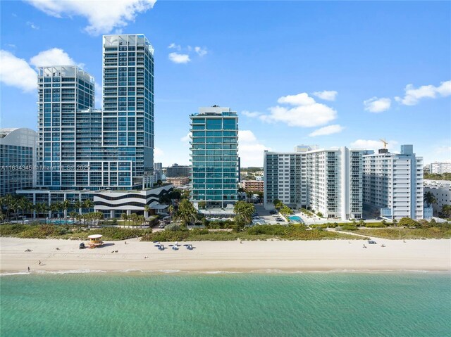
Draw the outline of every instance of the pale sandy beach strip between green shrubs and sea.
<instances>
[{"instance_id":1,"label":"pale sandy beach strip between green shrubs and sea","mask_svg":"<svg viewBox=\"0 0 451 337\"><path fill-rule=\"evenodd\" d=\"M155 243L138 239L80 250L81 241L2 237L0 273L27 272L28 267L30 272L451 271L449 239L376 241L207 241L192 242L193 250L163 243L167 249L160 251Z\"/></svg>"}]
</instances>

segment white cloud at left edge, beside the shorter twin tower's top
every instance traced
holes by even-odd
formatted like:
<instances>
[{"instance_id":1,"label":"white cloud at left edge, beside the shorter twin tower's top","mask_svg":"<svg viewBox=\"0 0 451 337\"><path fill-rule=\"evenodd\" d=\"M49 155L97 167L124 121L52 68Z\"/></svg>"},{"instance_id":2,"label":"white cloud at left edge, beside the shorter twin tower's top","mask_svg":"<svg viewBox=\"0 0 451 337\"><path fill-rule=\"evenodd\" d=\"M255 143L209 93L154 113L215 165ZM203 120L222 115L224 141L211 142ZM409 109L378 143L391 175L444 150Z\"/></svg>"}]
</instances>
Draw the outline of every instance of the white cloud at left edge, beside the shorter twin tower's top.
<instances>
[{"instance_id":1,"label":"white cloud at left edge, beside the shorter twin tower's top","mask_svg":"<svg viewBox=\"0 0 451 337\"><path fill-rule=\"evenodd\" d=\"M0 81L23 91L37 90L37 72L9 51L0 50Z\"/></svg>"}]
</instances>

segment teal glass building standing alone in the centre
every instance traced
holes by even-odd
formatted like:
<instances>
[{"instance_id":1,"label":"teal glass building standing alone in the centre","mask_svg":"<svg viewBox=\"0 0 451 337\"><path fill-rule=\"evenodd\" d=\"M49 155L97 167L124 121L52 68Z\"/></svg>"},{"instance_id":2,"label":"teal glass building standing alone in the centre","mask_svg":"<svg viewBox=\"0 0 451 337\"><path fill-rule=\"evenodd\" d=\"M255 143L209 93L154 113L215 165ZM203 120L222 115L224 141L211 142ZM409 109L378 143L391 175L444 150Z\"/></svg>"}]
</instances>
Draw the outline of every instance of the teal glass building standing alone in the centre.
<instances>
[{"instance_id":1,"label":"teal glass building standing alone in the centre","mask_svg":"<svg viewBox=\"0 0 451 337\"><path fill-rule=\"evenodd\" d=\"M191 118L192 201L233 208L238 191L238 116L230 108L199 108Z\"/></svg>"}]
</instances>

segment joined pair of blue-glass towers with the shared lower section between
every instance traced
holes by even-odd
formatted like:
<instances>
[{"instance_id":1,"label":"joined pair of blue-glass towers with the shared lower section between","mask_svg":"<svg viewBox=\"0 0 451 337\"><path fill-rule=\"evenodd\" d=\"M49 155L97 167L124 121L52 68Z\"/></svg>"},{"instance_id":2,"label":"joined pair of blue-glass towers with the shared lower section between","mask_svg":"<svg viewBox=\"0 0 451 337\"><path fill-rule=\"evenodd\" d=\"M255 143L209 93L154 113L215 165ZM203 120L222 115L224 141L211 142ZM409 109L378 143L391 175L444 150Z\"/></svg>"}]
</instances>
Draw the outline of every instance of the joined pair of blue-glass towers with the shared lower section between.
<instances>
[{"instance_id":1,"label":"joined pair of blue-glass towers with the shared lower section between","mask_svg":"<svg viewBox=\"0 0 451 337\"><path fill-rule=\"evenodd\" d=\"M94 78L87 72L39 69L37 188L18 191L30 201L94 200L94 192L144 189L157 180L154 49L142 34L105 35L102 42L103 110L94 109ZM122 208L135 205L124 196Z\"/></svg>"}]
</instances>

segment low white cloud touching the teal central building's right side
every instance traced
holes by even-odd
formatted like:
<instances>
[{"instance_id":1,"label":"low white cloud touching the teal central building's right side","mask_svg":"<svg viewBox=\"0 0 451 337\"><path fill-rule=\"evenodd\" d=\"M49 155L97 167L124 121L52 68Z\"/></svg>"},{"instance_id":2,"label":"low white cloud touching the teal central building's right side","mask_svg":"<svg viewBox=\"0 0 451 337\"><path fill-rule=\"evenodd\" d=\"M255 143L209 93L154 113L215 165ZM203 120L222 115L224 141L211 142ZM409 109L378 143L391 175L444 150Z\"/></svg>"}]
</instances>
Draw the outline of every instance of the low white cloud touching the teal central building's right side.
<instances>
[{"instance_id":1,"label":"low white cloud touching the teal central building's right side","mask_svg":"<svg viewBox=\"0 0 451 337\"><path fill-rule=\"evenodd\" d=\"M242 167L263 167L265 150L271 151L271 148L261 144L252 131L238 131L238 155L240 155Z\"/></svg>"}]
</instances>

